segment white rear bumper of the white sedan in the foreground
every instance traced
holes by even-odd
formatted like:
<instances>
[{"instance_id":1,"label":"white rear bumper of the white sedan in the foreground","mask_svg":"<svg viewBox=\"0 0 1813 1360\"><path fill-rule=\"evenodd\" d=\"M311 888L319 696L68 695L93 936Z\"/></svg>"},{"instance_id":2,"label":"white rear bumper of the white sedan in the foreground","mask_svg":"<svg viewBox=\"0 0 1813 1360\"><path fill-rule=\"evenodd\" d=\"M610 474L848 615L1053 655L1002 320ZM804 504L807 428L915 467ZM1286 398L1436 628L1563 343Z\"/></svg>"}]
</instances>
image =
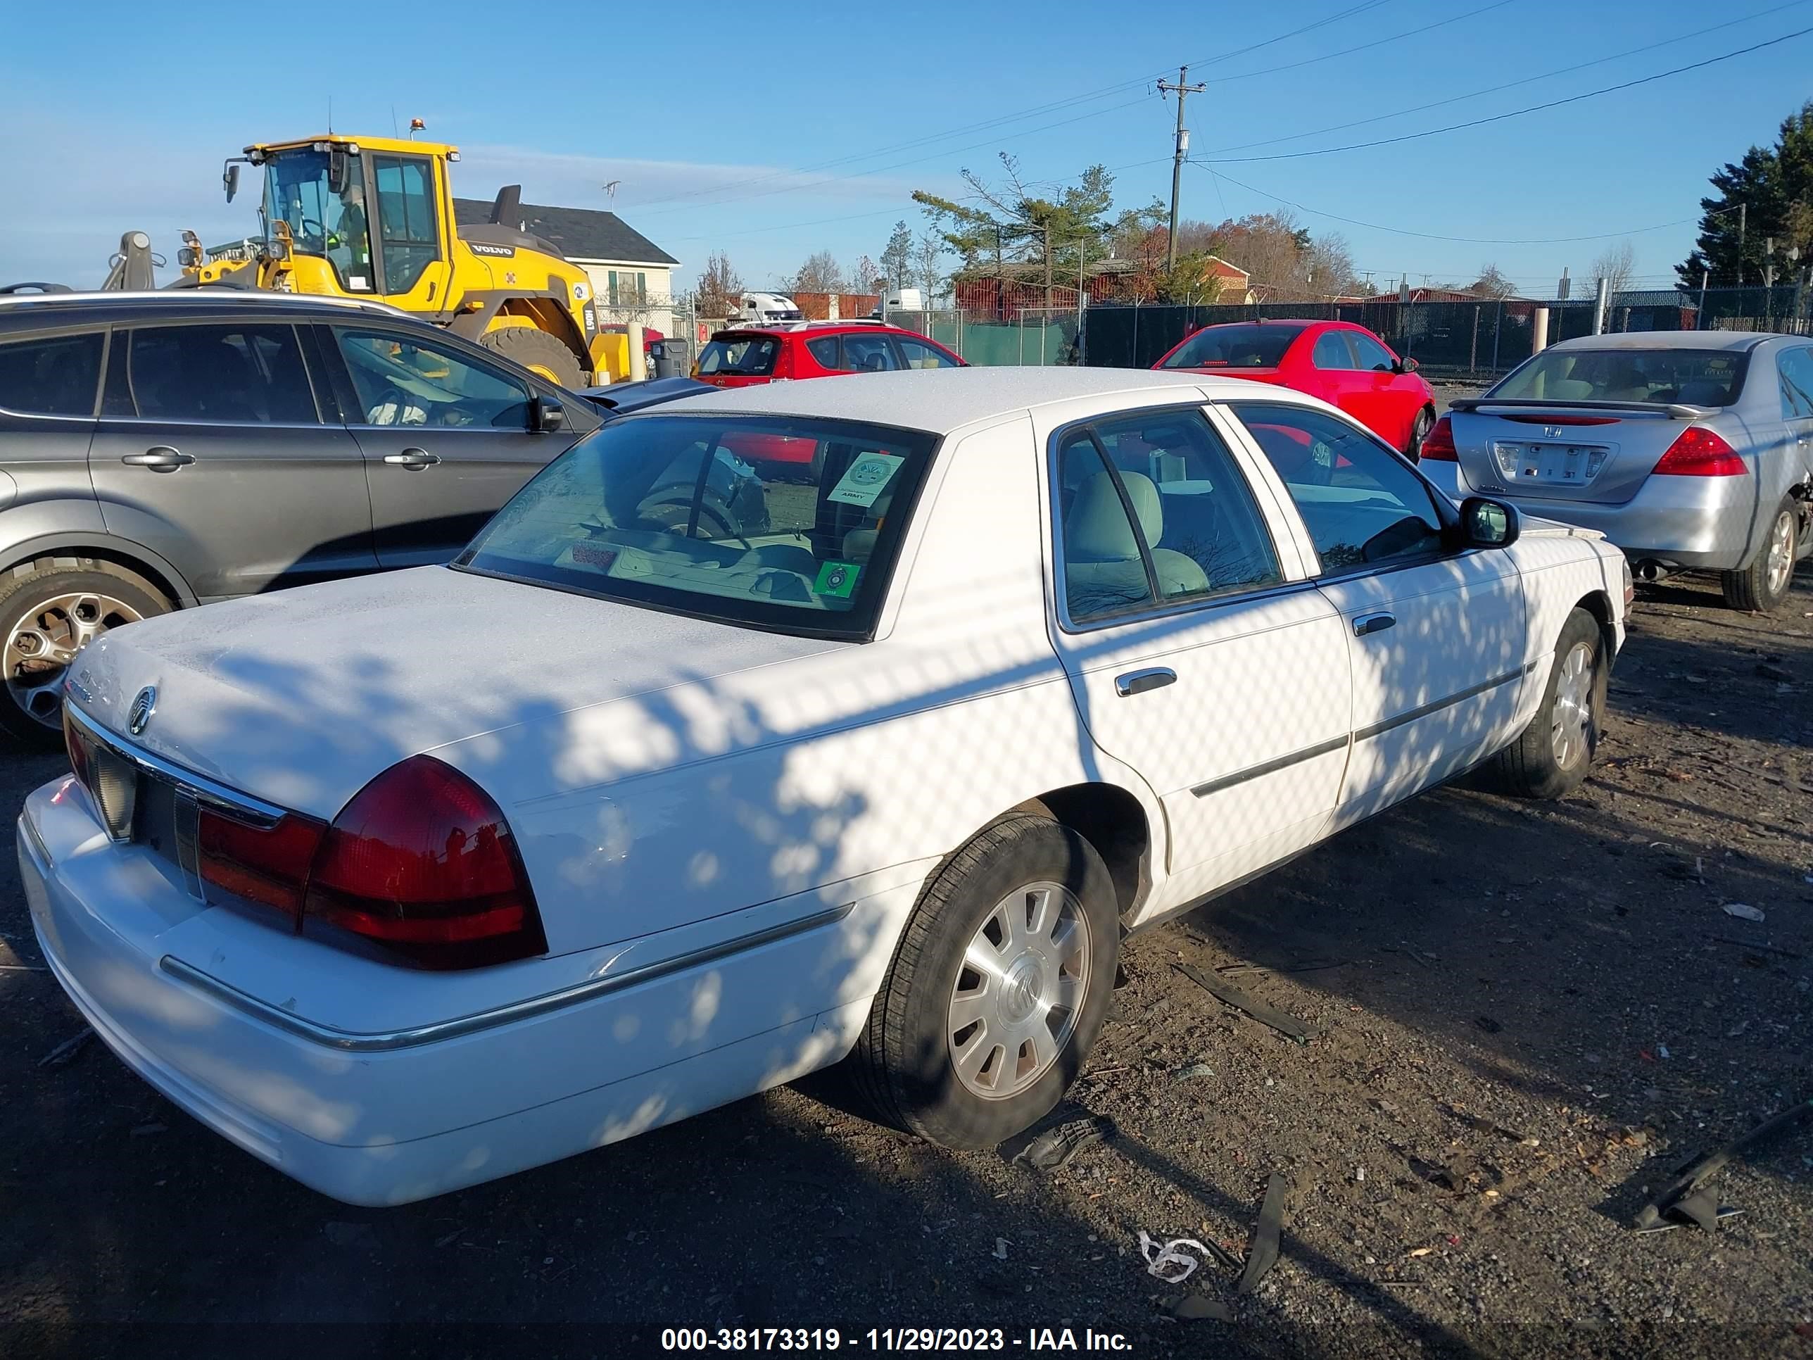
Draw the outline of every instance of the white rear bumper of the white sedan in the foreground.
<instances>
[{"instance_id":1,"label":"white rear bumper of the white sedan in the foreground","mask_svg":"<svg viewBox=\"0 0 1813 1360\"><path fill-rule=\"evenodd\" d=\"M178 903L107 841L76 791L33 792L16 840L45 961L107 1046L221 1137L352 1204L441 1195L790 1081L848 1052L874 990L850 999L863 988L832 985L825 1008L772 1003L780 979L848 950L863 908L881 907L865 899L577 1005L361 1046L172 959ZM901 894L883 896L883 918L903 910Z\"/></svg>"}]
</instances>

